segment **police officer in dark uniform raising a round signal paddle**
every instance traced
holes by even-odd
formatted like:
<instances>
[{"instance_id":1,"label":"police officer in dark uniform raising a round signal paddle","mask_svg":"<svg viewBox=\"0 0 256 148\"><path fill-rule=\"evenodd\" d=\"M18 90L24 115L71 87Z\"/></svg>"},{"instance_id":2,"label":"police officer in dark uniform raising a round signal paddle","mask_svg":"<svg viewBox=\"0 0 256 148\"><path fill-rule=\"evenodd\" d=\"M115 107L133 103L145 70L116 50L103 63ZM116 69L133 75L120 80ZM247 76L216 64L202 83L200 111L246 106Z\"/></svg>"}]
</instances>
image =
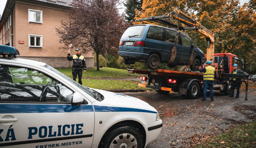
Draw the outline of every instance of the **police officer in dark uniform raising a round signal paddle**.
<instances>
[{"instance_id":1,"label":"police officer in dark uniform raising a round signal paddle","mask_svg":"<svg viewBox=\"0 0 256 148\"><path fill-rule=\"evenodd\" d=\"M70 50L68 52L68 60L72 61L73 60L73 66L72 66L72 75L73 75L73 80L75 81L76 76L78 74L78 83L82 85L82 74L83 74L83 69L84 73L86 71L86 63L84 56L82 56L81 50L79 48L75 49L76 54L71 56L70 55Z\"/></svg>"}]
</instances>

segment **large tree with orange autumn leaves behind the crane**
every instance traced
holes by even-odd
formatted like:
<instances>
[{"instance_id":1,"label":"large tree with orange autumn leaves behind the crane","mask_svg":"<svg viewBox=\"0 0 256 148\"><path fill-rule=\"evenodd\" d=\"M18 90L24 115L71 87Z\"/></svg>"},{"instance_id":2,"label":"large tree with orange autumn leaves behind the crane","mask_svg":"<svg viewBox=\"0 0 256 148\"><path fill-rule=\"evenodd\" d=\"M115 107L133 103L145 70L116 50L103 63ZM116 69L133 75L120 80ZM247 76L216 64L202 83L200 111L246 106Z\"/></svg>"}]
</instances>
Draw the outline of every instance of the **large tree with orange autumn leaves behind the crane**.
<instances>
[{"instance_id":1,"label":"large tree with orange autumn leaves behind the crane","mask_svg":"<svg viewBox=\"0 0 256 148\"><path fill-rule=\"evenodd\" d=\"M164 15L176 6L214 32L215 53L236 54L247 61L247 72L256 73L256 12L251 5L240 6L239 0L143 0L142 10L136 12L135 18ZM177 25L176 20L170 21ZM193 30L184 32L194 36ZM206 53L207 42L203 36L197 33L195 43Z\"/></svg>"}]
</instances>

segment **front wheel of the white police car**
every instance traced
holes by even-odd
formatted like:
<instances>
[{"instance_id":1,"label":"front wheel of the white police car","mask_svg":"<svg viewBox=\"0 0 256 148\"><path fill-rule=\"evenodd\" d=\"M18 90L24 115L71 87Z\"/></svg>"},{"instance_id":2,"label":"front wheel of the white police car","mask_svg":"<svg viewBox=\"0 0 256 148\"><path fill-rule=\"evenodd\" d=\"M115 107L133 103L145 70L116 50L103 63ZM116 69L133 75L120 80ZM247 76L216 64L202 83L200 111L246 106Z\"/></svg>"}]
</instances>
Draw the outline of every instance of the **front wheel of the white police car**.
<instances>
[{"instance_id":1,"label":"front wheel of the white police car","mask_svg":"<svg viewBox=\"0 0 256 148\"><path fill-rule=\"evenodd\" d=\"M105 136L102 148L142 148L142 144L142 135L136 128L123 126Z\"/></svg>"}]
</instances>

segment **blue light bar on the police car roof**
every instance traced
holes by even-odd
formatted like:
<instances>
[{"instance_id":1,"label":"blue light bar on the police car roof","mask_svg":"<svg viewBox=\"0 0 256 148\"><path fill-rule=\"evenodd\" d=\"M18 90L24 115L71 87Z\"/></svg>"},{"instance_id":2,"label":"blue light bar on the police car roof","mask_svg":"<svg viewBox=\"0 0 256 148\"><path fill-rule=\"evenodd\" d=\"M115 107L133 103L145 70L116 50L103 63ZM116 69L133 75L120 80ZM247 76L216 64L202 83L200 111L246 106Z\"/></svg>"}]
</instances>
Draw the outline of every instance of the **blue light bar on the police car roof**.
<instances>
[{"instance_id":1,"label":"blue light bar on the police car roof","mask_svg":"<svg viewBox=\"0 0 256 148\"><path fill-rule=\"evenodd\" d=\"M6 57L6 55L8 59L16 58L16 56L19 56L19 51L12 46L0 45L0 56Z\"/></svg>"}]
</instances>

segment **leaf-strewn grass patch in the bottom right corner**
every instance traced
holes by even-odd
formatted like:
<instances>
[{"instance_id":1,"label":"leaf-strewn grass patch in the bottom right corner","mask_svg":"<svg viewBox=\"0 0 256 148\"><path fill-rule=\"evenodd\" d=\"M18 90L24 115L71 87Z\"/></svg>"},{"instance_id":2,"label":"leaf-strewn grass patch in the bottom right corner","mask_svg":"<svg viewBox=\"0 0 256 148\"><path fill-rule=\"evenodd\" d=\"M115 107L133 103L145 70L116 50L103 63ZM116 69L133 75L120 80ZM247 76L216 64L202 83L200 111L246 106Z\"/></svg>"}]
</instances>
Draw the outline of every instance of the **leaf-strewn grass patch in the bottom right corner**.
<instances>
[{"instance_id":1,"label":"leaf-strewn grass patch in the bottom right corner","mask_svg":"<svg viewBox=\"0 0 256 148\"><path fill-rule=\"evenodd\" d=\"M230 132L213 137L201 144L197 144L197 148L223 148L223 147L239 147L252 148L256 147L256 121L249 124L239 125Z\"/></svg>"}]
</instances>

